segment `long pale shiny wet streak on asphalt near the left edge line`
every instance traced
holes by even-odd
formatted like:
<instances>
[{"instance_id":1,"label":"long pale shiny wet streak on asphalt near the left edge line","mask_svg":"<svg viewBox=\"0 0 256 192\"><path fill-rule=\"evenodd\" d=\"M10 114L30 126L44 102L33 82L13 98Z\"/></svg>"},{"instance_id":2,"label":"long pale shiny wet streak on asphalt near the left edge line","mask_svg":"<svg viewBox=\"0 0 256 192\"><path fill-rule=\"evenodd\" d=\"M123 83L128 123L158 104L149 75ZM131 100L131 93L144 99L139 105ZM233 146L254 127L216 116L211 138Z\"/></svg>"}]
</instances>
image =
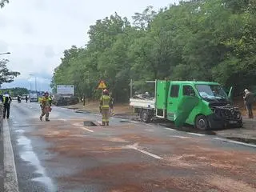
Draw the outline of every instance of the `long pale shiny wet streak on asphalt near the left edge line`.
<instances>
[{"instance_id":1,"label":"long pale shiny wet streak on asphalt near the left edge line","mask_svg":"<svg viewBox=\"0 0 256 192\"><path fill-rule=\"evenodd\" d=\"M20 157L24 161L30 162L30 164L36 168L35 173L41 174L41 177L33 178L32 181L42 182L43 184L45 184L45 186L47 186L48 190L53 191L54 184L51 179L46 175L45 169L41 166L37 155L34 153L30 139L21 136L20 138L18 138L18 144L23 146L23 150L22 152L20 152Z\"/></svg>"}]
</instances>

